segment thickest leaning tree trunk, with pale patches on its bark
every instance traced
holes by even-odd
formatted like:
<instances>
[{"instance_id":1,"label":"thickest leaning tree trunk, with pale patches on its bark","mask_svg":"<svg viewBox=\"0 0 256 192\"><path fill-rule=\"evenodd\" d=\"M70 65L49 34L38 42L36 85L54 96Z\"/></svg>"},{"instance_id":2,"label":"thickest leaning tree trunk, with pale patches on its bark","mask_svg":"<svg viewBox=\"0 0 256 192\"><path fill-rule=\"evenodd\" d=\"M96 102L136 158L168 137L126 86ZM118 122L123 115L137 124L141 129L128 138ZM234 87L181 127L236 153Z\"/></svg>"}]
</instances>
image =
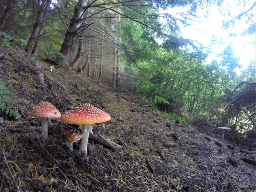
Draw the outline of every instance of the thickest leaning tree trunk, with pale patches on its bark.
<instances>
[{"instance_id":1,"label":"thickest leaning tree trunk, with pale patches on its bark","mask_svg":"<svg viewBox=\"0 0 256 192\"><path fill-rule=\"evenodd\" d=\"M79 29L83 24L82 15L86 9L86 2L87 0L78 1L74 11L74 16L71 19L69 29L66 32L63 44L61 46L60 53L62 53L69 62L71 62L75 44L79 37ZM90 3L90 0L88 0L88 3Z\"/></svg>"}]
</instances>

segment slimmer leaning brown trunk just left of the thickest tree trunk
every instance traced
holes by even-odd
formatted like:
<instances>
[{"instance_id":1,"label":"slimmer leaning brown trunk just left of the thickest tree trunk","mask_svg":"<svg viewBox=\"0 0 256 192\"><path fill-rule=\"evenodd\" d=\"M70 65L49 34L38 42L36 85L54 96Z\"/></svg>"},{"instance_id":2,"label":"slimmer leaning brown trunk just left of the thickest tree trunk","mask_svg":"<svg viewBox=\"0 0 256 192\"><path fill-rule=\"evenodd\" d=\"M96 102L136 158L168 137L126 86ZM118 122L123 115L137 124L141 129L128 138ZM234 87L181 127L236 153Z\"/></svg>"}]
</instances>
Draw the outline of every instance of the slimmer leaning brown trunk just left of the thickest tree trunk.
<instances>
[{"instance_id":1,"label":"slimmer leaning brown trunk just left of the thickest tree trunk","mask_svg":"<svg viewBox=\"0 0 256 192\"><path fill-rule=\"evenodd\" d=\"M44 24L44 21L46 20L47 10L49 9L50 4L51 4L51 0L42 0L41 6L38 11L38 15L35 20L33 31L25 47L25 51L29 54L32 54L33 50L36 47L35 45L36 45L36 42L38 41L38 38L40 37L41 30L43 30L43 24Z\"/></svg>"}]
</instances>

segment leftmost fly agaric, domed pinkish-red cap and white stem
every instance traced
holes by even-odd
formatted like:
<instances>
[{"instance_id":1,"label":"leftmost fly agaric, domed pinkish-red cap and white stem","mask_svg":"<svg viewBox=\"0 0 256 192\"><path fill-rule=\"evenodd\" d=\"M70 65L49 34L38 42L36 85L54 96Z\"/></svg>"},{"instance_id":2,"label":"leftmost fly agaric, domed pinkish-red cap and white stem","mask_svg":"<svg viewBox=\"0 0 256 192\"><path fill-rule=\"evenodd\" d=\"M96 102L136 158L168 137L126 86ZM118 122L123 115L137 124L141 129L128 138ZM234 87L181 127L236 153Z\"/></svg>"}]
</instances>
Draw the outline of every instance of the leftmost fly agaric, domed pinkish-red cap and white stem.
<instances>
[{"instance_id":1,"label":"leftmost fly agaric, domed pinkish-red cap and white stem","mask_svg":"<svg viewBox=\"0 0 256 192\"><path fill-rule=\"evenodd\" d=\"M45 140L48 137L48 119L59 119L61 113L49 102L41 102L32 109L31 116L41 119L42 135Z\"/></svg>"}]
</instances>

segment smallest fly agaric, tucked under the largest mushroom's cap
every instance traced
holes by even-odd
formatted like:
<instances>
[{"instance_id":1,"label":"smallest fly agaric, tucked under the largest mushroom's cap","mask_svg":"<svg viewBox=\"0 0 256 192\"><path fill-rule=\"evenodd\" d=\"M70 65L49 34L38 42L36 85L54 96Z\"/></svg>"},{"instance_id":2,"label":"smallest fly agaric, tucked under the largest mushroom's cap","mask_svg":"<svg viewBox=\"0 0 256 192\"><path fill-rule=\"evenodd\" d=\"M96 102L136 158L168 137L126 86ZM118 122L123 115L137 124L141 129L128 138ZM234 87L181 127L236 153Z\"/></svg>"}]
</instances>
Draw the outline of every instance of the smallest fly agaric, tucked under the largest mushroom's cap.
<instances>
[{"instance_id":1,"label":"smallest fly agaric, tucked under the largest mushroom's cap","mask_svg":"<svg viewBox=\"0 0 256 192\"><path fill-rule=\"evenodd\" d=\"M70 146L70 150L73 151L73 143L79 141L82 137L82 131L79 128L68 127L61 131L66 136L67 144Z\"/></svg>"}]
</instances>

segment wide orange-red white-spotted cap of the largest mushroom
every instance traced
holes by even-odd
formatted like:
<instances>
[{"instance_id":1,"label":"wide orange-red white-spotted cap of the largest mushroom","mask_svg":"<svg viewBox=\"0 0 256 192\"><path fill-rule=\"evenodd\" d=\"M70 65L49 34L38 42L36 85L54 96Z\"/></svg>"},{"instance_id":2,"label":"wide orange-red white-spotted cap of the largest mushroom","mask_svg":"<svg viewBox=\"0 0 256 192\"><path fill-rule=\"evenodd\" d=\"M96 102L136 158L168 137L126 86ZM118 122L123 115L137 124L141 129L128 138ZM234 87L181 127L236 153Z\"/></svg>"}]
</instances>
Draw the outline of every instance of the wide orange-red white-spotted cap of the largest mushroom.
<instances>
[{"instance_id":1,"label":"wide orange-red white-spotted cap of the largest mushroom","mask_svg":"<svg viewBox=\"0 0 256 192\"><path fill-rule=\"evenodd\" d=\"M81 104L61 116L61 121L76 125L100 123L110 119L111 117L108 113L89 103Z\"/></svg>"}]
</instances>

